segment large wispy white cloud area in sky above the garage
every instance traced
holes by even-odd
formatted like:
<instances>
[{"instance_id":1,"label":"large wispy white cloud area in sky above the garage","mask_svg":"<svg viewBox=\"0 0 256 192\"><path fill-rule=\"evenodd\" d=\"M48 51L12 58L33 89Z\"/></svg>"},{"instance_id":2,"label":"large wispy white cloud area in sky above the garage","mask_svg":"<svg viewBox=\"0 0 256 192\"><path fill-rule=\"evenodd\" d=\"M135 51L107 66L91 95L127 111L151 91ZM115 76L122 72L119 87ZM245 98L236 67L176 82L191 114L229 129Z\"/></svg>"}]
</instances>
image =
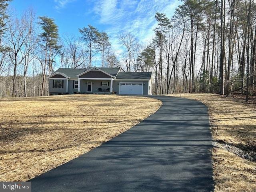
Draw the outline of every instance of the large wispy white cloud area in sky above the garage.
<instances>
[{"instance_id":1,"label":"large wispy white cloud area in sky above the garage","mask_svg":"<svg viewBox=\"0 0 256 192\"><path fill-rule=\"evenodd\" d=\"M154 36L157 22L156 12L164 12L171 17L179 0L95 0L94 14L100 24L107 27L115 49L120 50L118 35L124 31L132 33L142 43L148 43Z\"/></svg>"}]
</instances>

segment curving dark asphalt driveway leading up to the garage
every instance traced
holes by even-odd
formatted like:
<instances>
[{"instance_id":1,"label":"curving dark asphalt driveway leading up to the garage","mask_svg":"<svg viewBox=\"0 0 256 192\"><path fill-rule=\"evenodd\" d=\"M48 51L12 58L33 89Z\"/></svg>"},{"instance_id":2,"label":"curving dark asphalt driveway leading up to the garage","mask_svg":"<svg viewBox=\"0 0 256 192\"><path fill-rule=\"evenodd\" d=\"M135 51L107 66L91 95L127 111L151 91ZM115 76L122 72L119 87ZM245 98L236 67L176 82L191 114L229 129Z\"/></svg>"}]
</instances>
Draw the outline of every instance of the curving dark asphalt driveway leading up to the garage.
<instances>
[{"instance_id":1,"label":"curving dark asphalt driveway leading up to the garage","mask_svg":"<svg viewBox=\"0 0 256 192\"><path fill-rule=\"evenodd\" d=\"M207 107L168 96L162 107L102 146L32 179L32 192L210 192Z\"/></svg>"}]
</instances>

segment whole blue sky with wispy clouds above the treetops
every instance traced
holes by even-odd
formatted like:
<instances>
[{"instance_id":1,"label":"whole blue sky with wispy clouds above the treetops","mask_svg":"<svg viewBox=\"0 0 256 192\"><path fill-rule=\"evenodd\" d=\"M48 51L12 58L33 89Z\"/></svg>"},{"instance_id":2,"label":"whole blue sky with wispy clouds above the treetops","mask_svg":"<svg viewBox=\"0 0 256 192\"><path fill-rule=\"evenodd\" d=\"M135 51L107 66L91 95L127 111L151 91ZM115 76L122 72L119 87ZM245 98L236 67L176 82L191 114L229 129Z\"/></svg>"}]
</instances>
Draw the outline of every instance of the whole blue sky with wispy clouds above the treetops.
<instances>
[{"instance_id":1,"label":"whole blue sky with wispy clouds above the treetops","mask_svg":"<svg viewBox=\"0 0 256 192\"><path fill-rule=\"evenodd\" d=\"M80 35L78 28L91 24L104 30L116 50L118 35L129 31L140 41L152 39L156 27L154 14L164 12L171 17L179 0L13 0L10 5L21 13L33 7L37 16L49 16L56 20L60 36Z\"/></svg>"}]
</instances>

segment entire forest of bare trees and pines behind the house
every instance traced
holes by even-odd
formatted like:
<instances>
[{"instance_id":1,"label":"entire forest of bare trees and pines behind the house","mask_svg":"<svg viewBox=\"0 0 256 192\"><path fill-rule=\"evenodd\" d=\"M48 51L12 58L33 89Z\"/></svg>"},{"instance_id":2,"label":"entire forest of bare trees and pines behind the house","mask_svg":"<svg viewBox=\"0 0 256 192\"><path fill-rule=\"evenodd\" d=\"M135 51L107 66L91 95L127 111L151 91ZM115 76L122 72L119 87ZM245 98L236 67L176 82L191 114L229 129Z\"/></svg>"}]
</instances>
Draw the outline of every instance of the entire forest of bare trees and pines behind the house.
<instances>
[{"instance_id":1,"label":"entire forest of bare trees and pines behind the house","mask_svg":"<svg viewBox=\"0 0 256 192\"><path fill-rule=\"evenodd\" d=\"M256 94L254 0L182 0L172 18L156 12L150 43L120 34L122 52L91 25L78 29L80 36L60 37L54 18L37 18L32 8L16 16L8 2L0 0L2 98L48 95L47 76L57 68L94 65L152 71L154 94Z\"/></svg>"}]
</instances>

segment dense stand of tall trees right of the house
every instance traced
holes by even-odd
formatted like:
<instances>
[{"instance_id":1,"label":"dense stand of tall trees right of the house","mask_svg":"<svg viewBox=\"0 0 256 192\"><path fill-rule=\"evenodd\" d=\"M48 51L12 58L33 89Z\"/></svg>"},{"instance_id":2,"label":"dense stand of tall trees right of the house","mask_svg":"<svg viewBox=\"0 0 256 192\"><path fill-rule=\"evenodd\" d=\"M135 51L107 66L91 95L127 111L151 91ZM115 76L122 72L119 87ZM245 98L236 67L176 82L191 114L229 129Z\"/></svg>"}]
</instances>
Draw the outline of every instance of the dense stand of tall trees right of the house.
<instances>
[{"instance_id":1,"label":"dense stand of tall trees right of the house","mask_svg":"<svg viewBox=\"0 0 256 192\"><path fill-rule=\"evenodd\" d=\"M184 0L158 26L139 60L154 69L156 94L234 92L255 95L253 0Z\"/></svg>"}]
</instances>

